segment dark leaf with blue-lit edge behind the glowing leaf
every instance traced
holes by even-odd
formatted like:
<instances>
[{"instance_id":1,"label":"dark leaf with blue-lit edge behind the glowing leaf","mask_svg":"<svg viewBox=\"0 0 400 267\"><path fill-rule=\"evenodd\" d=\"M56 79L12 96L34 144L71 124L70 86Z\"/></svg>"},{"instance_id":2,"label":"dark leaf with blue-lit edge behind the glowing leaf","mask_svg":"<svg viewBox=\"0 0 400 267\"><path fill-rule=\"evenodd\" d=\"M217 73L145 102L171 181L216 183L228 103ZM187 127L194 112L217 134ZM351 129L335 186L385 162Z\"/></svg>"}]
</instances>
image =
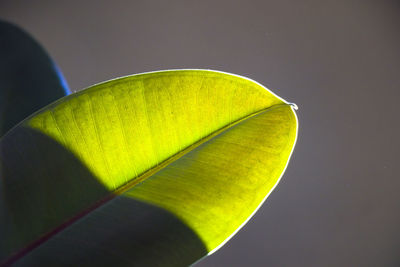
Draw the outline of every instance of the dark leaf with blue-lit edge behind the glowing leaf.
<instances>
[{"instance_id":1,"label":"dark leaf with blue-lit edge behind the glowing leaf","mask_svg":"<svg viewBox=\"0 0 400 267\"><path fill-rule=\"evenodd\" d=\"M0 20L0 136L68 92L44 49L17 26Z\"/></svg>"}]
</instances>

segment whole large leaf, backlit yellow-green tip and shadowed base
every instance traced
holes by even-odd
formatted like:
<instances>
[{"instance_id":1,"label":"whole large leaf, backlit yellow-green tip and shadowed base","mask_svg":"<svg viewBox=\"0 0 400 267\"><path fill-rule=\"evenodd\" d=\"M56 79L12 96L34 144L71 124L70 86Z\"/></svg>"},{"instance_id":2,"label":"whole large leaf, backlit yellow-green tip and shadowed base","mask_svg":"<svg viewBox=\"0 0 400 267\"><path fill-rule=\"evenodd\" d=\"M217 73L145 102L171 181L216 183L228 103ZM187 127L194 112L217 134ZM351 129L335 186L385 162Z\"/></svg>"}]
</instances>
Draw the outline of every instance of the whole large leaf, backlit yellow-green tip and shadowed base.
<instances>
[{"instance_id":1,"label":"whole large leaf, backlit yellow-green tip and shadowed base","mask_svg":"<svg viewBox=\"0 0 400 267\"><path fill-rule=\"evenodd\" d=\"M0 143L0 261L184 266L278 183L294 106L209 70L128 76L66 96Z\"/></svg>"}]
</instances>

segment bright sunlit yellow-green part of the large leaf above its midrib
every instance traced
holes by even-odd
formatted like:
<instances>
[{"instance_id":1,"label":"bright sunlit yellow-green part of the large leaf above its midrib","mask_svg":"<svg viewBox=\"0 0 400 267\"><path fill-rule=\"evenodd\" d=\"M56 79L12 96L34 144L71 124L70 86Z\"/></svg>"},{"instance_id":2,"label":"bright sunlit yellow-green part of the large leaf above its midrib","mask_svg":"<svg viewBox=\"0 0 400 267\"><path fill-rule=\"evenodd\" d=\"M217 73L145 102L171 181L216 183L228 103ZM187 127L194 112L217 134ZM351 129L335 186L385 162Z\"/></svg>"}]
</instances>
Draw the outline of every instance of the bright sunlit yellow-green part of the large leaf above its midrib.
<instances>
[{"instance_id":1,"label":"bright sunlit yellow-green part of the large leaf above its midrib","mask_svg":"<svg viewBox=\"0 0 400 267\"><path fill-rule=\"evenodd\" d=\"M282 100L213 71L165 71L95 85L26 123L75 153L110 190L187 146Z\"/></svg>"}]
</instances>

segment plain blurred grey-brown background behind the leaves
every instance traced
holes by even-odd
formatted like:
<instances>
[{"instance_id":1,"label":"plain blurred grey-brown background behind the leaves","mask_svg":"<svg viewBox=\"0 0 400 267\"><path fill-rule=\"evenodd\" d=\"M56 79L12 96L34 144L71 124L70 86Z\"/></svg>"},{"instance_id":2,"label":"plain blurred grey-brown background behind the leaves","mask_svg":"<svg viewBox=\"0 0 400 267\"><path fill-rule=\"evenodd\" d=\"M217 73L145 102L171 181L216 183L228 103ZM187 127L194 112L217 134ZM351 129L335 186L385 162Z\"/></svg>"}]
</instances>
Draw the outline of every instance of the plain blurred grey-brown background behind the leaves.
<instances>
[{"instance_id":1,"label":"plain blurred grey-brown background behind the leaves","mask_svg":"<svg viewBox=\"0 0 400 267\"><path fill-rule=\"evenodd\" d=\"M197 266L400 266L398 1L0 1L73 91L138 72L248 76L299 106L250 222Z\"/></svg>"}]
</instances>

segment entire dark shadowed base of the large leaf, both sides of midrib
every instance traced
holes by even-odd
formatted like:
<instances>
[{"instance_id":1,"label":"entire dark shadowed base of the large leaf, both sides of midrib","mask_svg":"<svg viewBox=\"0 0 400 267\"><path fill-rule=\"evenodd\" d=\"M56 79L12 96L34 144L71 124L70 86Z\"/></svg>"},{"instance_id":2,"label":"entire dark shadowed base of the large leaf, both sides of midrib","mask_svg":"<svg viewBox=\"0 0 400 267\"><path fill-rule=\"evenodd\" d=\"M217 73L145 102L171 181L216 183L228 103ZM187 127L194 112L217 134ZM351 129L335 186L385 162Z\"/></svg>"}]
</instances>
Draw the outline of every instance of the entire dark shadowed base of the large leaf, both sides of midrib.
<instances>
[{"instance_id":1,"label":"entire dark shadowed base of the large leaf, both sides of midrib","mask_svg":"<svg viewBox=\"0 0 400 267\"><path fill-rule=\"evenodd\" d=\"M35 241L16 266L185 266L207 254L174 215L123 196L60 228L109 195L63 146L15 128L0 143L0 262Z\"/></svg>"}]
</instances>

